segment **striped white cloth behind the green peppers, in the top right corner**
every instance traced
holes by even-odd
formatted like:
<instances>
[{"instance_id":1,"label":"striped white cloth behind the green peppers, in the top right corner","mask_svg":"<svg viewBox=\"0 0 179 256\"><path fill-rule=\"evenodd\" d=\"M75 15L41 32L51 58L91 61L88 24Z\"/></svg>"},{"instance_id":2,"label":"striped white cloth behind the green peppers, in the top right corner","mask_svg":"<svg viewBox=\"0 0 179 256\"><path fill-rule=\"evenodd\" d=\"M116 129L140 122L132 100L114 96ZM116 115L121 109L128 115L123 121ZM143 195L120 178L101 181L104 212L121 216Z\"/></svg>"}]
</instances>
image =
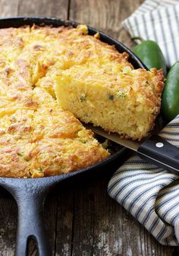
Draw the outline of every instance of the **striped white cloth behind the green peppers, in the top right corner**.
<instances>
[{"instance_id":1,"label":"striped white cloth behind the green peppers, in the top right corner","mask_svg":"<svg viewBox=\"0 0 179 256\"><path fill-rule=\"evenodd\" d=\"M146 0L122 24L130 36L157 42L168 66L179 60L178 0Z\"/></svg>"}]
</instances>

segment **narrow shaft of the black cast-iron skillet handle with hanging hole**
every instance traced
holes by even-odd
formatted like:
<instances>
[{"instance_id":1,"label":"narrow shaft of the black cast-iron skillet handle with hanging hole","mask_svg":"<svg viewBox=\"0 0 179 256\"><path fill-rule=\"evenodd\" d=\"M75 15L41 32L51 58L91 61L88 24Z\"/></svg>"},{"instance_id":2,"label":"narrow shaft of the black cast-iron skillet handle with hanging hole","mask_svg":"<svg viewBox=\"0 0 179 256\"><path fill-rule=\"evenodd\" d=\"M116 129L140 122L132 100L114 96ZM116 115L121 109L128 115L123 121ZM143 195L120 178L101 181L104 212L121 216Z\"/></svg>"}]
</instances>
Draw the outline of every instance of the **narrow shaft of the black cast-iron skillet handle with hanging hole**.
<instances>
[{"instance_id":1,"label":"narrow shaft of the black cast-iron skillet handle with hanging hole","mask_svg":"<svg viewBox=\"0 0 179 256\"><path fill-rule=\"evenodd\" d=\"M27 255L27 241L30 237L36 241L39 256L52 255L42 217L45 194L41 191L30 191L29 194L19 191L19 193L20 196L16 198L18 225L15 256Z\"/></svg>"}]
</instances>

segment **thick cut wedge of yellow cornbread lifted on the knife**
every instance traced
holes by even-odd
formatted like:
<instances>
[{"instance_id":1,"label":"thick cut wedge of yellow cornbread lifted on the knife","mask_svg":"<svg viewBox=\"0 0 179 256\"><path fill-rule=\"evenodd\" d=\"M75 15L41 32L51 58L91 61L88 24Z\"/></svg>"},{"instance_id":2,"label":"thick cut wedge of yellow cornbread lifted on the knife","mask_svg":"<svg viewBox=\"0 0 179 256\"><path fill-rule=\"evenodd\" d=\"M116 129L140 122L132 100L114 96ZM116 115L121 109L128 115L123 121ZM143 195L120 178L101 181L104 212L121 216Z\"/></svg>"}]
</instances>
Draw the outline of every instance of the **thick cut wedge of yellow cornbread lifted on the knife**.
<instances>
[{"instance_id":1,"label":"thick cut wedge of yellow cornbread lifted on the knife","mask_svg":"<svg viewBox=\"0 0 179 256\"><path fill-rule=\"evenodd\" d=\"M159 113L162 70L80 65L58 72L55 92L60 105L83 122L140 140Z\"/></svg>"}]
</instances>

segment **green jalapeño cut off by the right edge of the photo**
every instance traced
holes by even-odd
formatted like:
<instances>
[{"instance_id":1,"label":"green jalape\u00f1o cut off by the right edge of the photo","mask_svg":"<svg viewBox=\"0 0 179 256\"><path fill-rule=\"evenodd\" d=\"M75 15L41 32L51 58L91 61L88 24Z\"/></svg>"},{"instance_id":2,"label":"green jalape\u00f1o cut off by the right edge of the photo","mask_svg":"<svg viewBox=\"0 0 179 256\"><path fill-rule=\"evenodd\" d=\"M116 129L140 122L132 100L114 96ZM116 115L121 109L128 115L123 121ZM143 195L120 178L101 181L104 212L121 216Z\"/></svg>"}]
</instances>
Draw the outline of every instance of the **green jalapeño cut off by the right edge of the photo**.
<instances>
[{"instance_id":1,"label":"green jalape\u00f1o cut off by the right edge of the photo","mask_svg":"<svg viewBox=\"0 0 179 256\"><path fill-rule=\"evenodd\" d=\"M162 94L162 116L168 122L179 114L179 62L172 65Z\"/></svg>"}]
</instances>

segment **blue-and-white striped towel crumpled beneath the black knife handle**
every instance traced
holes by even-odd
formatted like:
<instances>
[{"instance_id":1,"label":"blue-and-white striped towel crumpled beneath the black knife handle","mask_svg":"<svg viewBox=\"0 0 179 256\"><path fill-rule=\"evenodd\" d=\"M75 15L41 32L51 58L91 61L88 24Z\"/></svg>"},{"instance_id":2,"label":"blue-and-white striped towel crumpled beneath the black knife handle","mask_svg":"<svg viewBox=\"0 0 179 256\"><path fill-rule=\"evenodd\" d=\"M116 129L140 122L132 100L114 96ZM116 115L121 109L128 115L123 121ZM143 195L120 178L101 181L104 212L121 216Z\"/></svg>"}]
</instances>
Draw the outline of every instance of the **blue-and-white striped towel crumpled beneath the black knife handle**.
<instances>
[{"instance_id":1,"label":"blue-and-white striped towel crumpled beneath the black knife handle","mask_svg":"<svg viewBox=\"0 0 179 256\"><path fill-rule=\"evenodd\" d=\"M179 147L179 115L159 134ZM179 175L135 155L112 176L108 194L162 245L179 245Z\"/></svg>"}]
</instances>

